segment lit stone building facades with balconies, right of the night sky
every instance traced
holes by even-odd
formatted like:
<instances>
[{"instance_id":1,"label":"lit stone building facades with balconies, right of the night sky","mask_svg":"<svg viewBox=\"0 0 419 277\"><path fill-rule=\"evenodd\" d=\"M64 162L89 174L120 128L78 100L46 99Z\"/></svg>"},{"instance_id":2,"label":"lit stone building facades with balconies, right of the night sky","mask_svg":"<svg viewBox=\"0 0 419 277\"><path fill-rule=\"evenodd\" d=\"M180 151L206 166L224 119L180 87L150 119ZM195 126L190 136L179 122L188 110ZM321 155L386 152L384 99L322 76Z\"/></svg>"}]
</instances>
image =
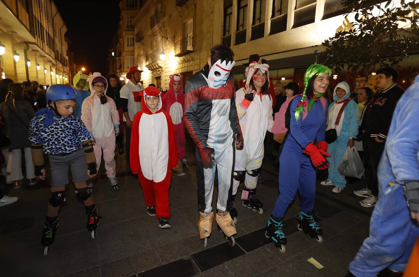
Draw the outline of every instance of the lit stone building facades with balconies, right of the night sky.
<instances>
[{"instance_id":1,"label":"lit stone building facades with balconies, right of the night sky","mask_svg":"<svg viewBox=\"0 0 419 277\"><path fill-rule=\"evenodd\" d=\"M127 2L137 5L130 13L124 13ZM268 61L274 83L294 81L302 88L308 66L323 62L316 54L325 49L321 43L353 20L341 2L122 0L118 44L109 50L110 58L112 52L115 55L113 72L125 78L129 67L136 65L144 70L143 85L154 83L166 90L171 74L183 74L185 82L202 69L210 49L222 44L235 53L232 74L238 86L244 77L243 64L257 53ZM133 15L134 30L124 29Z\"/></svg>"}]
</instances>

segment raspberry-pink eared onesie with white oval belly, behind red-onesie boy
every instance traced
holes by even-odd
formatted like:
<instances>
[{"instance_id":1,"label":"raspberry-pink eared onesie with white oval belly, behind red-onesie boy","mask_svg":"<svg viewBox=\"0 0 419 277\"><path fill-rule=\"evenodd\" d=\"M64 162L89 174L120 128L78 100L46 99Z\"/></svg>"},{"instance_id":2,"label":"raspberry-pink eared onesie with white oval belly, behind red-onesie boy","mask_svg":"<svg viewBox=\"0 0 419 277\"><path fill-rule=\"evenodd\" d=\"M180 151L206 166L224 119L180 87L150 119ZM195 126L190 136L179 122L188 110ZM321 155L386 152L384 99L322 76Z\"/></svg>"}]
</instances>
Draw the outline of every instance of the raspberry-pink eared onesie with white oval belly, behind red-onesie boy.
<instances>
[{"instance_id":1,"label":"raspberry-pink eared onesie with white oval belly, behind red-onesie boy","mask_svg":"<svg viewBox=\"0 0 419 277\"><path fill-rule=\"evenodd\" d=\"M177 94L173 91L173 83L180 82L181 87ZM170 76L169 89L164 94L163 109L170 114L175 130L176 146L178 149L178 159L181 160L186 156L186 139L185 139L185 121L184 114L185 97L183 92L183 76L173 74Z\"/></svg>"}]
</instances>

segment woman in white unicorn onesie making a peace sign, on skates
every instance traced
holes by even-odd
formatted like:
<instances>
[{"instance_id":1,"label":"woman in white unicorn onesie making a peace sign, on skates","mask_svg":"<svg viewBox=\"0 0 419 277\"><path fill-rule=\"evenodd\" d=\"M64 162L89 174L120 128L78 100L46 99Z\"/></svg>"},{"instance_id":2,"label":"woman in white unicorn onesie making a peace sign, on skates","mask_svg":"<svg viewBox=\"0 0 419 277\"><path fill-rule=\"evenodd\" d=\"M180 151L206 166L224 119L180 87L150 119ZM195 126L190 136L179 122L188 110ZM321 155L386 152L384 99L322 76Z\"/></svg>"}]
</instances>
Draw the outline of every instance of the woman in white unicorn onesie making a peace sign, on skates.
<instances>
[{"instance_id":1,"label":"woman in white unicorn onesie making a peace sign, on skates","mask_svg":"<svg viewBox=\"0 0 419 277\"><path fill-rule=\"evenodd\" d=\"M248 66L246 86L236 92L240 128L246 144L243 150L236 150L233 173L233 201L230 215L235 219L237 211L234 205L238 185L244 179L243 206L263 213L263 203L256 197L258 176L264 157L264 139L266 131L271 132L274 125L272 117L272 97L269 95L268 64L253 62ZM247 174L246 174L247 173Z\"/></svg>"}]
</instances>

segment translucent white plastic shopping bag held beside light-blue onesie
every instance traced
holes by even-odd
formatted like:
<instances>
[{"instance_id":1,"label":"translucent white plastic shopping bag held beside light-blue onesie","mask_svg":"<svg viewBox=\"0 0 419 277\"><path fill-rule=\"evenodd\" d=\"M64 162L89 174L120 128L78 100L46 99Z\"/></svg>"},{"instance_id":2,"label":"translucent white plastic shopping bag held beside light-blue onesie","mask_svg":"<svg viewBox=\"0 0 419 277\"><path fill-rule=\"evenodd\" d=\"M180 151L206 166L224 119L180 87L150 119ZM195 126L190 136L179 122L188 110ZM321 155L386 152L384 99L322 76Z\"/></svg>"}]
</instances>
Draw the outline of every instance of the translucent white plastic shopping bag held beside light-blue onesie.
<instances>
[{"instance_id":1,"label":"translucent white plastic shopping bag held beside light-blue onesie","mask_svg":"<svg viewBox=\"0 0 419 277\"><path fill-rule=\"evenodd\" d=\"M361 179L364 174L364 164L355 147L349 147L344 152L338 171L341 175L346 177L355 177Z\"/></svg>"}]
</instances>

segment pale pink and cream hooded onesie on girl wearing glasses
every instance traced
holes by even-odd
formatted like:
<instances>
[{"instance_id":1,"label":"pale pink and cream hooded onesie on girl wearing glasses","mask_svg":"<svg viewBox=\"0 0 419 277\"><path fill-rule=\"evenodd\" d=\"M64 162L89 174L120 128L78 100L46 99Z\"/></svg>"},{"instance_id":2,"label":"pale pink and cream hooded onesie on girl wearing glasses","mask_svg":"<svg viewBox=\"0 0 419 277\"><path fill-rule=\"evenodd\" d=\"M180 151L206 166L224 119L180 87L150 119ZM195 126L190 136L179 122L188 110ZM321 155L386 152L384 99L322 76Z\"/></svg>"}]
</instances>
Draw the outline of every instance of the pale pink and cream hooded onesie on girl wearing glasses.
<instances>
[{"instance_id":1,"label":"pale pink and cream hooded onesie on girl wearing glasses","mask_svg":"<svg viewBox=\"0 0 419 277\"><path fill-rule=\"evenodd\" d=\"M93 83L101 82L105 85L103 96L107 102L101 104L100 96L95 92ZM96 170L99 170L102 160L105 161L106 176L112 178L116 176L115 156L115 134L119 133L119 113L116 109L114 99L106 96L108 81L99 72L93 73L89 78L89 86L92 91L90 96L84 99L81 109L81 120L91 132L95 145L93 151L96 157ZM117 131L117 132L116 132Z\"/></svg>"}]
</instances>

